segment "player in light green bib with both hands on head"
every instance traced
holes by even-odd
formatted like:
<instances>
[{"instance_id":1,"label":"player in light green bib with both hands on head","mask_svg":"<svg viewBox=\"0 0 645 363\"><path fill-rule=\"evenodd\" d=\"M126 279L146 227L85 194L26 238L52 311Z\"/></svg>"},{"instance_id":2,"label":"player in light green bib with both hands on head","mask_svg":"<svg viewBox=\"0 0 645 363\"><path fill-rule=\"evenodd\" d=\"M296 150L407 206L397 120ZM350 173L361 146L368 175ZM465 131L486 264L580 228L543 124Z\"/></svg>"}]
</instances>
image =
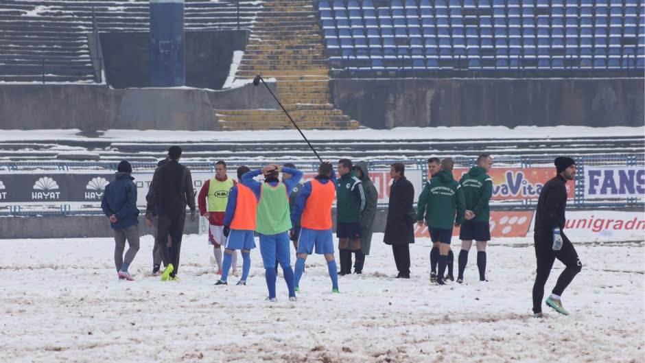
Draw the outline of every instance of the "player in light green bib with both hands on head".
<instances>
[{"instance_id":1,"label":"player in light green bib with both hands on head","mask_svg":"<svg viewBox=\"0 0 645 363\"><path fill-rule=\"evenodd\" d=\"M279 172L292 175L281 182ZM253 180L260 174L264 175L264 183ZM257 202L255 231L259 233L260 253L264 265L266 286L269 292L267 301L277 301L275 296L275 260L282 266L285 282L289 290L289 300L296 301L294 291L294 270L291 267L288 231L292 228L289 194L298 184L303 172L280 165L266 165L262 169L252 170L242 175L242 184L253 190Z\"/></svg>"}]
</instances>

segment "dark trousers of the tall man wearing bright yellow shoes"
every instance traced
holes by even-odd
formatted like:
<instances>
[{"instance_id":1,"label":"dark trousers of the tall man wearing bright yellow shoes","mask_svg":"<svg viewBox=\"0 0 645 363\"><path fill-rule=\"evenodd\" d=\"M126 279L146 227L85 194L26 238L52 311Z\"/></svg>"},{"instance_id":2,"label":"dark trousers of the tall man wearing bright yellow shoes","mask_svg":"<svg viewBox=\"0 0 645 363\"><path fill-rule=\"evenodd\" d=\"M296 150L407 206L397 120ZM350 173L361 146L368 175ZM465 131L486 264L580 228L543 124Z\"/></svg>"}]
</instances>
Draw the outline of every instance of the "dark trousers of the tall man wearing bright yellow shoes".
<instances>
[{"instance_id":1,"label":"dark trousers of the tall man wearing bright yellow shoes","mask_svg":"<svg viewBox=\"0 0 645 363\"><path fill-rule=\"evenodd\" d=\"M161 251L161 260L164 266L172 264L174 270L170 277L174 277L179 270L179 253L181 250L181 237L184 234L184 222L186 220L186 213L179 215L159 215L159 224L157 225L157 234L155 244L157 249ZM170 246L167 246L167 236L170 235ZM160 238L166 236L166 238Z\"/></svg>"}]
</instances>

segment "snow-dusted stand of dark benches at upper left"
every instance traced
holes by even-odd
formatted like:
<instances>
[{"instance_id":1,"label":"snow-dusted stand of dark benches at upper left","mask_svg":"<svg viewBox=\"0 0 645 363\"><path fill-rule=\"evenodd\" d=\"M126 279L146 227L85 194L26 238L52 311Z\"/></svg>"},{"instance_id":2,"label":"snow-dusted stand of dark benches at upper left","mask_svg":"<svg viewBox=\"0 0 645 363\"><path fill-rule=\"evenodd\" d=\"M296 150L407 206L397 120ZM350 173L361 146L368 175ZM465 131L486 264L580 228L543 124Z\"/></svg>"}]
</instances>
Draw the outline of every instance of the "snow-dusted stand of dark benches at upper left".
<instances>
[{"instance_id":1,"label":"snow-dusted stand of dark benches at upper left","mask_svg":"<svg viewBox=\"0 0 645 363\"><path fill-rule=\"evenodd\" d=\"M0 2L0 82L95 83L89 34L148 32L148 0L5 0ZM187 0L187 31L250 28L257 1ZM93 22L93 15L95 23Z\"/></svg>"}]
</instances>

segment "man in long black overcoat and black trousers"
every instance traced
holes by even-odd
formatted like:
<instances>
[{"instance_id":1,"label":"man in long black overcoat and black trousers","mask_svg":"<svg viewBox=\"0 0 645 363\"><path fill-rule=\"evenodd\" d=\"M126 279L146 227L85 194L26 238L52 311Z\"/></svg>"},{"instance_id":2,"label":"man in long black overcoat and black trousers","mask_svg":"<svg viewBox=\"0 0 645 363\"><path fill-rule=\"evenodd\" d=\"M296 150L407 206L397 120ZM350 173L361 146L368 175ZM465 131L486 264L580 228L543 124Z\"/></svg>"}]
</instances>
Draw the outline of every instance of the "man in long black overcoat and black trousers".
<instances>
[{"instance_id":1,"label":"man in long black overcoat and black trousers","mask_svg":"<svg viewBox=\"0 0 645 363\"><path fill-rule=\"evenodd\" d=\"M414 243L414 186L404 176L405 170L402 163L394 163L390 167L392 186L383 238L383 242L392 245L399 270L397 279L410 279L410 244Z\"/></svg>"}]
</instances>

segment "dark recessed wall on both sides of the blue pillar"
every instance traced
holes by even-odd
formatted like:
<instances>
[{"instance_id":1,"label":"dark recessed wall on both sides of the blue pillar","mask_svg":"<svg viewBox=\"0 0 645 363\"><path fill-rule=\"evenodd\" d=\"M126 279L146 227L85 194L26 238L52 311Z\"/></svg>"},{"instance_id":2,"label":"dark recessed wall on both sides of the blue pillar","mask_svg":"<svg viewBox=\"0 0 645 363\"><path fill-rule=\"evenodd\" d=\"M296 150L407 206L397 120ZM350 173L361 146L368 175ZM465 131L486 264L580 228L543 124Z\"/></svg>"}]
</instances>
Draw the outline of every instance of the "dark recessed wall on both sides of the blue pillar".
<instances>
[{"instance_id":1,"label":"dark recessed wall on both sides of the blue pillar","mask_svg":"<svg viewBox=\"0 0 645 363\"><path fill-rule=\"evenodd\" d=\"M186 32L186 86L221 89L233 51L246 48L248 34L248 30ZM148 32L102 33L100 37L108 84L115 89L147 87Z\"/></svg>"}]
</instances>

